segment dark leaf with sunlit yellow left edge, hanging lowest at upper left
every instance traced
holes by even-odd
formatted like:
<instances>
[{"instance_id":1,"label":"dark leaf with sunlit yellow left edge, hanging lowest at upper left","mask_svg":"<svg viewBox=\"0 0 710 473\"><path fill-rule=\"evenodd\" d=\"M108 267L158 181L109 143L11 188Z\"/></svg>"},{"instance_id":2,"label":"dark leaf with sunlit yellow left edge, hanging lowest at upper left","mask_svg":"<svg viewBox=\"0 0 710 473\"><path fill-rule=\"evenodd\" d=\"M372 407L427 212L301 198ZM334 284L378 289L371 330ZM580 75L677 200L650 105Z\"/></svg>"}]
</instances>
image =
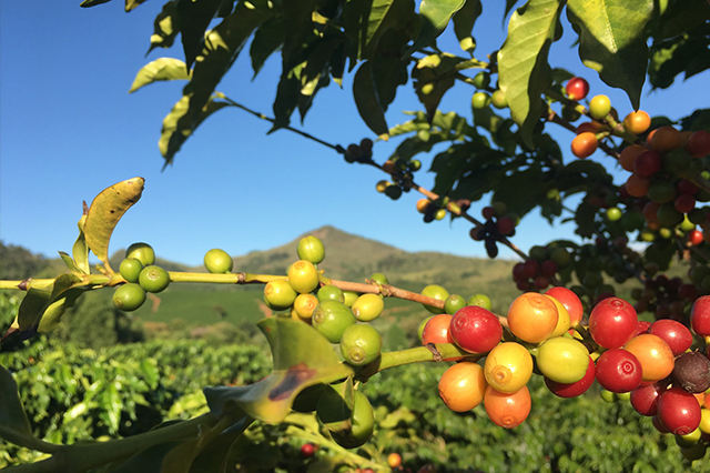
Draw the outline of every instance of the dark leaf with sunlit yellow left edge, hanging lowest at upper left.
<instances>
[{"instance_id":1,"label":"dark leaf with sunlit yellow left edge, hanging lowest at upper left","mask_svg":"<svg viewBox=\"0 0 710 473\"><path fill-rule=\"evenodd\" d=\"M213 98L210 98L207 103L203 105L197 113L191 109L192 95L183 95L183 98L173 105L173 109L163 119L163 128L158 142L158 148L165 158L164 167L172 164L175 153L180 151L182 144L207 117L229 105L226 102L215 100L220 97L223 95L215 94Z\"/></svg>"}]
</instances>

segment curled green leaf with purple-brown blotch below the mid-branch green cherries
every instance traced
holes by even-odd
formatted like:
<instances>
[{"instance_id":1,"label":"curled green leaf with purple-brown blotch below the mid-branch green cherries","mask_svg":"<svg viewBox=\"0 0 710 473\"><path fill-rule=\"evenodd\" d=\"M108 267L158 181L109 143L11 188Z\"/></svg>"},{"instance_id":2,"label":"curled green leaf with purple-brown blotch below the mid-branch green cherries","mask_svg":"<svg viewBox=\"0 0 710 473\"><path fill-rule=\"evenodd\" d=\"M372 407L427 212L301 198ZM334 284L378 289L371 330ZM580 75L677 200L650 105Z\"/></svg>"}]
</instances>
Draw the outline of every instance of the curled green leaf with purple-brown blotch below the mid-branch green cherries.
<instances>
[{"instance_id":1,"label":"curled green leaf with purple-brown blotch below the mid-branch green cherries","mask_svg":"<svg viewBox=\"0 0 710 473\"><path fill-rule=\"evenodd\" d=\"M339 362L331 343L314 328L283 318L258 323L272 349L274 371L248 386L205 388L211 411L220 416L225 411L243 412L267 423L282 422L294 397L305 388L329 383L353 373Z\"/></svg>"}]
</instances>

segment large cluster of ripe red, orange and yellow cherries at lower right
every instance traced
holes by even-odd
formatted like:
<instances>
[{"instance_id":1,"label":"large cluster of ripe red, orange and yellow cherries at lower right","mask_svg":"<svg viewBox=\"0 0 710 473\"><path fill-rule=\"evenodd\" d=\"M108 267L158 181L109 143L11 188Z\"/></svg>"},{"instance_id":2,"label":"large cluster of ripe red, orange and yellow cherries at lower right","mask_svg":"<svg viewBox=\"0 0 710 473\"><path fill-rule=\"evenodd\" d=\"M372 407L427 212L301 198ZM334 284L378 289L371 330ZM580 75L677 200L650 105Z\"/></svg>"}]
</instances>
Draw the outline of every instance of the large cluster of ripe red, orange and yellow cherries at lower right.
<instances>
[{"instance_id":1,"label":"large cluster of ripe red, orange and yellow cherries at lower right","mask_svg":"<svg viewBox=\"0 0 710 473\"><path fill-rule=\"evenodd\" d=\"M467 305L426 320L423 344L460 349L460 355L445 360L456 363L439 380L449 409L466 412L483 403L494 423L510 429L530 412L526 384L534 372L560 397L580 395L596 381L602 397L628 400L641 415L655 416L662 432L676 435L683 455L688 449L704 454L710 359L690 350L693 335L686 325L639 321L633 306L616 296L598 302L582 325L581 301L566 288L523 293L506 315ZM710 296L694 302L691 326L710 338Z\"/></svg>"}]
</instances>

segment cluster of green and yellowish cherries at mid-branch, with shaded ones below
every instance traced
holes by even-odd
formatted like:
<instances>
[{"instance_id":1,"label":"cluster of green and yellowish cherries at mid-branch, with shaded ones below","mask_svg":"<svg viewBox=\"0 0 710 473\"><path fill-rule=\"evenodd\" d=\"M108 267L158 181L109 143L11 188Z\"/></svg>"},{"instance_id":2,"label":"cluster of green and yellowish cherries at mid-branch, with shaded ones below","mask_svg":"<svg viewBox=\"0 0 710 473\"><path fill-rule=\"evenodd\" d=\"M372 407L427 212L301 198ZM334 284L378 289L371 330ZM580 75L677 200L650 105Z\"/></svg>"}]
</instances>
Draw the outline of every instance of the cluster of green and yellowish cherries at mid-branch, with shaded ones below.
<instances>
[{"instance_id":1,"label":"cluster of green and yellowish cherries at mid-branch, with shaded ones below","mask_svg":"<svg viewBox=\"0 0 710 473\"><path fill-rule=\"evenodd\" d=\"M383 313L383 296L322 284L317 264L324 260L325 249L316 236L301 239L297 253L300 260L291 264L287 278L273 280L264 286L265 304L275 311L286 311L286 316L296 321L312 324L331 343L338 345L345 363L364 366L377 360L383 340L368 322ZM388 284L387 278L381 273L373 274L368 281ZM353 405L347 406L345 399L351 394ZM346 449L361 446L373 433L372 405L348 382L304 390L294 401L294 410L316 411L331 436ZM348 416L351 422L344 423Z\"/></svg>"}]
</instances>

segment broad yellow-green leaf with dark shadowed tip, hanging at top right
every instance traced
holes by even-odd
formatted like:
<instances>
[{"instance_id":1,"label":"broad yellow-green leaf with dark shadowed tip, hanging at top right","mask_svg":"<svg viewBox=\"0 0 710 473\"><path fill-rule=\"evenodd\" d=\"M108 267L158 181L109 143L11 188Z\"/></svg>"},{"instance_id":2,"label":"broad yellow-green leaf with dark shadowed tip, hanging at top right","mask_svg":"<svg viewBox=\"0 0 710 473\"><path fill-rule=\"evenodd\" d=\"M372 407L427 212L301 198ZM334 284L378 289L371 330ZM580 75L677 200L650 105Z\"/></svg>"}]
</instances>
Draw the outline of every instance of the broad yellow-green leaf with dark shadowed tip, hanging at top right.
<instances>
[{"instance_id":1,"label":"broad yellow-green leaf with dark shadowed tip, hanging at top right","mask_svg":"<svg viewBox=\"0 0 710 473\"><path fill-rule=\"evenodd\" d=\"M610 87L626 91L638 110L646 81L645 28L653 0L570 0L567 17L579 32L579 57Z\"/></svg>"}]
</instances>

